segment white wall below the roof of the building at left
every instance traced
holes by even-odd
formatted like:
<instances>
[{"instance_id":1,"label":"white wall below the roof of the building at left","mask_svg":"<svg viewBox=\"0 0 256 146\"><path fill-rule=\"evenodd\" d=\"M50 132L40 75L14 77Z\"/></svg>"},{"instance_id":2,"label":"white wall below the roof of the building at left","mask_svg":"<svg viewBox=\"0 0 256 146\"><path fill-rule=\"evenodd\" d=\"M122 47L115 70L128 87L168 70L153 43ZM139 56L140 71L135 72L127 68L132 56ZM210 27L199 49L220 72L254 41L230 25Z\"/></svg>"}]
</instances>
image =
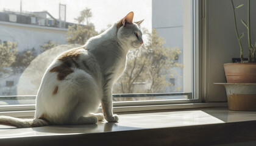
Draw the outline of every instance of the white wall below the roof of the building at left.
<instances>
[{"instance_id":1,"label":"white wall below the roof of the building at left","mask_svg":"<svg viewBox=\"0 0 256 146\"><path fill-rule=\"evenodd\" d=\"M19 52L33 47L39 51L40 46L48 41L54 41L56 44L67 44L66 31L67 29L0 21L0 40L2 42L16 41Z\"/></svg>"}]
</instances>

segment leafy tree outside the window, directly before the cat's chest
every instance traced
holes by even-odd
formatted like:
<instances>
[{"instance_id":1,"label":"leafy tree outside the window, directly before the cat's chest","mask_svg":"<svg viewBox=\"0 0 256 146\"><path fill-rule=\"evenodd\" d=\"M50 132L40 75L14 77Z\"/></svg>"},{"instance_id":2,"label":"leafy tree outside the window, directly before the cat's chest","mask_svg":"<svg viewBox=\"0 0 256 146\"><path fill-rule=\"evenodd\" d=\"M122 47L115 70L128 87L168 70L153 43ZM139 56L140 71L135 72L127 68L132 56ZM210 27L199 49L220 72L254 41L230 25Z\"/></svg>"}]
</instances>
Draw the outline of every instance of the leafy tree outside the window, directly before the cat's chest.
<instances>
[{"instance_id":1,"label":"leafy tree outside the window, directly before the cat's chest","mask_svg":"<svg viewBox=\"0 0 256 146\"><path fill-rule=\"evenodd\" d=\"M138 50L127 54L126 71L114 86L114 92L164 92L167 86L173 86L166 77L174 76L171 68L183 68L182 64L175 61L182 52L178 47L164 47L165 40L158 36L155 29L147 35L150 41L144 49L148 54L141 55Z\"/></svg>"}]
</instances>

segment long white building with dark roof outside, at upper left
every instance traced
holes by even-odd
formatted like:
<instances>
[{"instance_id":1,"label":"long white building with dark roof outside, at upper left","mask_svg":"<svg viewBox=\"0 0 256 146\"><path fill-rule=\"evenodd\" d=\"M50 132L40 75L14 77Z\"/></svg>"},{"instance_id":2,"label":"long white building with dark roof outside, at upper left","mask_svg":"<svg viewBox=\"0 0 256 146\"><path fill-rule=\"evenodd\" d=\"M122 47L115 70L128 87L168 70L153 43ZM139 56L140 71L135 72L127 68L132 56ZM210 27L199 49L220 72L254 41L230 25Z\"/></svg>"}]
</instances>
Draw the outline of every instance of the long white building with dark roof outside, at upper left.
<instances>
[{"instance_id":1,"label":"long white building with dark roof outside, at upper left","mask_svg":"<svg viewBox=\"0 0 256 146\"><path fill-rule=\"evenodd\" d=\"M0 42L16 41L18 52L35 49L53 41L55 44L66 44L66 32L72 23L62 23L48 12L15 13L0 12ZM51 15L50 15L51 16Z\"/></svg>"}]
</instances>

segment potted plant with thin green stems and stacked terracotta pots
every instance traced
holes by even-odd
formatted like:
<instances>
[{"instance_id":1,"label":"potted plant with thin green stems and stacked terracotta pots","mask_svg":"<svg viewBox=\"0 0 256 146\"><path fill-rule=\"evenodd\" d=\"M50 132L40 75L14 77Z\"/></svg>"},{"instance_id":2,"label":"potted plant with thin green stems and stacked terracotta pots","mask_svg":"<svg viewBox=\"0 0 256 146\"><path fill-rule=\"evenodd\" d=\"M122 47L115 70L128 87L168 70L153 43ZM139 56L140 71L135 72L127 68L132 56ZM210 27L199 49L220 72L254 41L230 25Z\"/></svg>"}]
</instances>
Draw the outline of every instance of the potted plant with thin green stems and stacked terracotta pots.
<instances>
[{"instance_id":1,"label":"potted plant with thin green stems and stacked terracotta pots","mask_svg":"<svg viewBox=\"0 0 256 146\"><path fill-rule=\"evenodd\" d=\"M256 111L256 42L251 43L251 16L250 16L250 0L247 4L247 23L241 19L241 23L247 29L248 58L244 59L243 46L241 39L246 33L238 33L236 25L235 11L244 4L235 6L231 0L233 7L233 18L235 21L235 32L240 46L240 63L226 63L224 70L227 83L222 83L226 87L227 101L229 109L236 111Z\"/></svg>"}]
</instances>

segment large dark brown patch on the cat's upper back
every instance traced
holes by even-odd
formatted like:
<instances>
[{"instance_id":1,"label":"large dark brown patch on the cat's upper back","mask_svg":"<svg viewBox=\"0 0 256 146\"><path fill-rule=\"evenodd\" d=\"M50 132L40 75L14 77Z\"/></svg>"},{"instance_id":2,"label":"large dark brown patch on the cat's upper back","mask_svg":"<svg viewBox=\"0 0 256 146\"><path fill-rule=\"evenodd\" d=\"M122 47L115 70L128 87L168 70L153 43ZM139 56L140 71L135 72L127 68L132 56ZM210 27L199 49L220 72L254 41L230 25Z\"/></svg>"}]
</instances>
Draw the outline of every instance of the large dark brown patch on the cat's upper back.
<instances>
[{"instance_id":1,"label":"large dark brown patch on the cat's upper back","mask_svg":"<svg viewBox=\"0 0 256 146\"><path fill-rule=\"evenodd\" d=\"M71 49L68 52L60 55L58 60L62 61L62 64L60 64L60 66L52 68L50 72L57 72L58 80L63 80L67 75L73 73L74 71L73 69L71 69L73 64L76 66L76 68L79 68L79 64L76 62L76 60L79 59L80 49L82 48L83 47Z\"/></svg>"}]
</instances>

